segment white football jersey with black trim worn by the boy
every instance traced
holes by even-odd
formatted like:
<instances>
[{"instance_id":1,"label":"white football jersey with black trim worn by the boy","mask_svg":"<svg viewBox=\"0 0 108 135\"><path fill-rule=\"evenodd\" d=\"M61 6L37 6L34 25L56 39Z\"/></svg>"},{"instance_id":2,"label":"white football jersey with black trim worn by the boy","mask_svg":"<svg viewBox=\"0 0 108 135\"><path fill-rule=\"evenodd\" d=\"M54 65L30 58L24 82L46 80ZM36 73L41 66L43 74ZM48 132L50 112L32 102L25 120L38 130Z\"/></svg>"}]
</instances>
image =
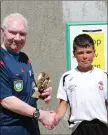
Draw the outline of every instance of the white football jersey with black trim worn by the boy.
<instances>
[{"instance_id":1,"label":"white football jersey with black trim worn by the boy","mask_svg":"<svg viewBox=\"0 0 108 135\"><path fill-rule=\"evenodd\" d=\"M75 68L61 77L57 98L69 102L73 131L83 120L99 119L107 123L107 97L107 74L99 68L89 72Z\"/></svg>"}]
</instances>

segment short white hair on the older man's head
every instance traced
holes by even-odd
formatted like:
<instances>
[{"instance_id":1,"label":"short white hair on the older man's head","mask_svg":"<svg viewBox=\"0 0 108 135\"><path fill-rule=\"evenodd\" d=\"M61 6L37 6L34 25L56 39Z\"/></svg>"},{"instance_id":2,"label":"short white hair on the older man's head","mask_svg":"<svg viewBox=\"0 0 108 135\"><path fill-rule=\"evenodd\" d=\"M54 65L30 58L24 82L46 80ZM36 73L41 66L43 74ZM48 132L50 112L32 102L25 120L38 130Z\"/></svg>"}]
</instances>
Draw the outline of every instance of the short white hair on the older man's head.
<instances>
[{"instance_id":1,"label":"short white hair on the older man's head","mask_svg":"<svg viewBox=\"0 0 108 135\"><path fill-rule=\"evenodd\" d=\"M2 26L1 26L1 27L2 27L3 29L7 28L7 27L8 27L8 20L9 20L11 17L14 17L14 16L18 16L18 17L20 17L20 18L22 18L22 19L24 20L25 25L26 25L26 30L27 30L27 29L28 29L28 21L27 21L27 19L26 19L22 14L20 14L20 13L12 13L12 14L6 16L6 17L3 19L3 22L2 22Z\"/></svg>"}]
</instances>

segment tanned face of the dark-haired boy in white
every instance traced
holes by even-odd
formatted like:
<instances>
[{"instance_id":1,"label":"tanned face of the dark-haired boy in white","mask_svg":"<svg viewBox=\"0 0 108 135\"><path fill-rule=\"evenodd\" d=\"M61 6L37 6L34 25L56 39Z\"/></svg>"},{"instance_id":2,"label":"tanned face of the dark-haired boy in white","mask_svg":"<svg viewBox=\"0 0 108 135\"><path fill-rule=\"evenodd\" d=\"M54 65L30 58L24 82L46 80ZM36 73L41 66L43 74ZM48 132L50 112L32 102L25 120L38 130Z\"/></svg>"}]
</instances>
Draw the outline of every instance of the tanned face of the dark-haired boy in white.
<instances>
[{"instance_id":1,"label":"tanned face of the dark-haired boy in white","mask_svg":"<svg viewBox=\"0 0 108 135\"><path fill-rule=\"evenodd\" d=\"M91 67L93 59L95 57L95 50L92 46L88 46L85 48L77 47L74 56L78 62L78 67L87 69Z\"/></svg>"}]
</instances>

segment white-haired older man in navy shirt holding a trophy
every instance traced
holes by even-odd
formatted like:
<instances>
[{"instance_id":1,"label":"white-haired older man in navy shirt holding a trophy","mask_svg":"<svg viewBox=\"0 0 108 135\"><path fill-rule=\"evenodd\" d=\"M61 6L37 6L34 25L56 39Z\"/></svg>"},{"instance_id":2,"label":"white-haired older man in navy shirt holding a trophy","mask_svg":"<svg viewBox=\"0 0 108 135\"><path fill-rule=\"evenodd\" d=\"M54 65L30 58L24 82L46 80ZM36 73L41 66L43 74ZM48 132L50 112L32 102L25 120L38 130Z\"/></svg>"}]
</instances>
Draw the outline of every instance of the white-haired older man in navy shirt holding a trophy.
<instances>
[{"instance_id":1,"label":"white-haired older man in navy shirt holding a trophy","mask_svg":"<svg viewBox=\"0 0 108 135\"><path fill-rule=\"evenodd\" d=\"M25 46L27 20L19 13L5 17L0 48L0 135L38 135L38 120L43 125L54 121L55 113L36 108L32 82L34 75ZM51 88L41 93L49 102Z\"/></svg>"}]
</instances>

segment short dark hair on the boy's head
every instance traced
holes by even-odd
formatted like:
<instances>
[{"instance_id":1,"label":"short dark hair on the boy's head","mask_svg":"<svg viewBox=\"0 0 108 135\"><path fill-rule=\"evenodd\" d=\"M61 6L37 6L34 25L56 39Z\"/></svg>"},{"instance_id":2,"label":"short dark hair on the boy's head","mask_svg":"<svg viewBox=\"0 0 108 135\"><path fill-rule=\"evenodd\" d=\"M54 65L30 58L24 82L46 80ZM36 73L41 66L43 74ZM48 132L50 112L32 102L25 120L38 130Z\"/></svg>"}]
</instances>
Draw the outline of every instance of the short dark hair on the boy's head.
<instances>
[{"instance_id":1,"label":"short dark hair on the boy's head","mask_svg":"<svg viewBox=\"0 0 108 135\"><path fill-rule=\"evenodd\" d=\"M80 34L74 38L73 41L73 52L75 52L77 47L88 47L92 46L94 49L94 41L88 34Z\"/></svg>"}]
</instances>

